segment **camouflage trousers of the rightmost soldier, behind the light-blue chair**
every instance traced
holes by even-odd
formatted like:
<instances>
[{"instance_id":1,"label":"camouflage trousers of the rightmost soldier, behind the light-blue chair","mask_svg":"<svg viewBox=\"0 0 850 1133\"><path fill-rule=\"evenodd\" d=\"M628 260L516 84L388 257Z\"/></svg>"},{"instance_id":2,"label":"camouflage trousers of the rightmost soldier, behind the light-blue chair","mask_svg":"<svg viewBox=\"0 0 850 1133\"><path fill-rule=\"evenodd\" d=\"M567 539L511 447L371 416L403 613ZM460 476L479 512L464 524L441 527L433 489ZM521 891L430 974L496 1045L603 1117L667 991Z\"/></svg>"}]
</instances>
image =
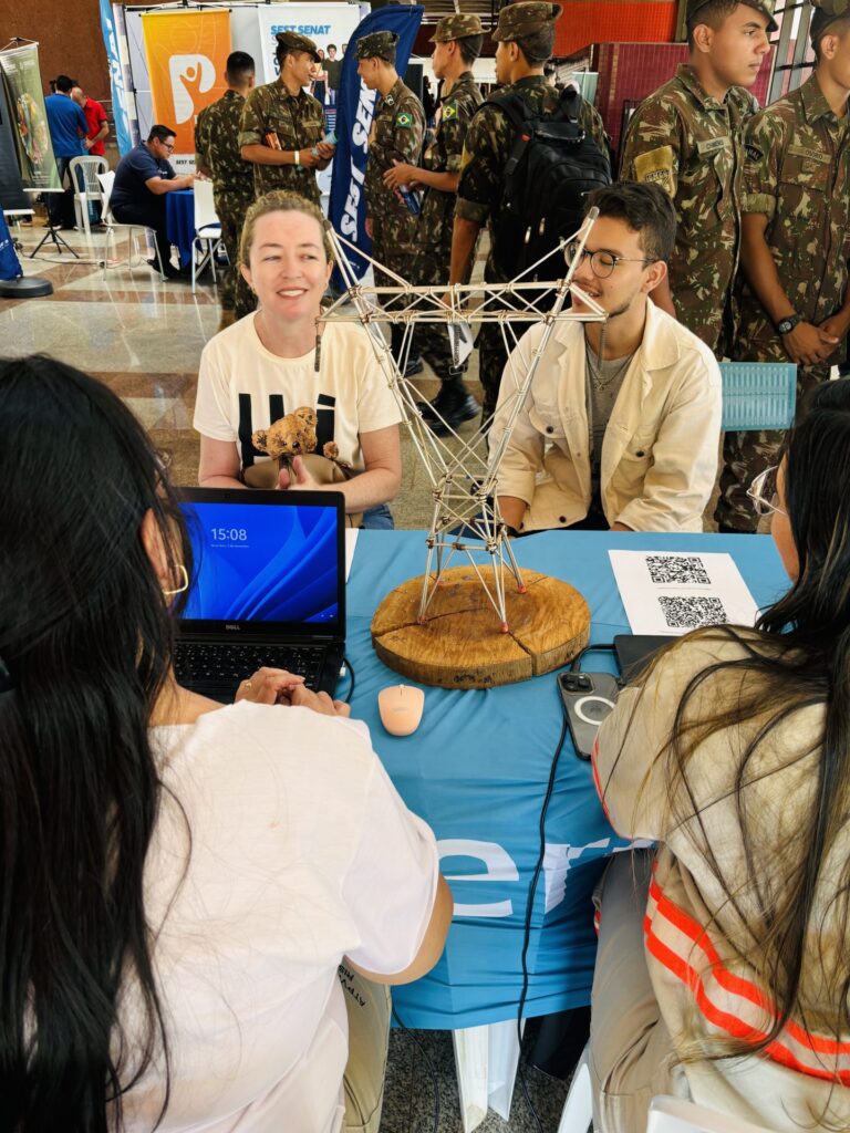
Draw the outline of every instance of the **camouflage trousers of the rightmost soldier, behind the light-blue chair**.
<instances>
[{"instance_id":1,"label":"camouflage trousers of the rightmost soldier, behind the light-blue chair","mask_svg":"<svg viewBox=\"0 0 850 1133\"><path fill-rule=\"evenodd\" d=\"M754 360L754 359L750 359ZM788 361L788 358L760 358L759 361ZM830 380L830 366L797 367L797 411L806 394ZM759 517L747 495L753 480L776 463L784 429L741 429L723 436L723 469L720 474L720 496L714 518L721 528L754 533Z\"/></svg>"}]
</instances>

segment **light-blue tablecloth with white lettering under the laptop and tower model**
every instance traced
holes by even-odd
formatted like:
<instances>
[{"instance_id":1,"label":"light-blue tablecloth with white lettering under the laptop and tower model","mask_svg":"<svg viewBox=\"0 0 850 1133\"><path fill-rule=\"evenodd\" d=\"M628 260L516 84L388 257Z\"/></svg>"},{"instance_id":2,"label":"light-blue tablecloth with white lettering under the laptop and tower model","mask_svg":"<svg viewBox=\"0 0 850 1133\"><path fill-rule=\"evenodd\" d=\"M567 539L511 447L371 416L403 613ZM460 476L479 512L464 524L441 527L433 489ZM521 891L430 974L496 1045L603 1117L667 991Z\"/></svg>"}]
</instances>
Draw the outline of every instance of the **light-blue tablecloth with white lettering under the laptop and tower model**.
<instances>
[{"instance_id":1,"label":"light-blue tablecloth with white lettering under the laptop and tower model","mask_svg":"<svg viewBox=\"0 0 850 1133\"><path fill-rule=\"evenodd\" d=\"M729 551L762 605L788 587L767 536L552 531L517 539L513 547L521 566L564 579L584 594L593 642L629 632L609 547ZM443 957L430 976L394 988L393 1002L408 1026L456 1029L517 1013L539 812L562 717L550 673L482 691L424 687L418 731L403 739L388 735L377 693L401 679L375 656L369 623L384 595L422 574L424 565L422 533L360 531L347 591L347 651L357 679L352 713L368 724L408 807L434 829L456 902ZM613 671L613 661L595 654L586 667ZM596 952L590 895L607 855L624 845L607 825L589 766L576 758L569 735L545 841L528 951L528 1016L589 1003Z\"/></svg>"}]
</instances>

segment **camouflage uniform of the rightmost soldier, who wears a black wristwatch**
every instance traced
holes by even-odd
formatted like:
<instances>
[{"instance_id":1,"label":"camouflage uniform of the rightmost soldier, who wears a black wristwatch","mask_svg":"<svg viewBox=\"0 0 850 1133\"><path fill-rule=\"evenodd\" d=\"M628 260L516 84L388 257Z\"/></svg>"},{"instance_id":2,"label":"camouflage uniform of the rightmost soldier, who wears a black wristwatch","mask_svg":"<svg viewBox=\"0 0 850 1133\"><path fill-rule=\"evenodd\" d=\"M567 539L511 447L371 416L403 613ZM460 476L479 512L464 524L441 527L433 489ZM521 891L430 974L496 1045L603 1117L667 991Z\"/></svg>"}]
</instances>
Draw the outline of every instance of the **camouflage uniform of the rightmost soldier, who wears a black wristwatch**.
<instances>
[{"instance_id":1,"label":"camouflage uniform of the rightmost soldier, who wears a black wristwatch","mask_svg":"<svg viewBox=\"0 0 850 1133\"><path fill-rule=\"evenodd\" d=\"M794 310L818 325L844 300L850 257L850 116L838 119L816 75L756 114L747 128L743 211L767 216L765 240ZM747 281L740 282L740 329L733 357L789 361L782 338ZM800 366L798 397L830 376L844 344L827 361ZM746 495L775 462L777 432L728 433L717 521L755 530Z\"/></svg>"}]
</instances>

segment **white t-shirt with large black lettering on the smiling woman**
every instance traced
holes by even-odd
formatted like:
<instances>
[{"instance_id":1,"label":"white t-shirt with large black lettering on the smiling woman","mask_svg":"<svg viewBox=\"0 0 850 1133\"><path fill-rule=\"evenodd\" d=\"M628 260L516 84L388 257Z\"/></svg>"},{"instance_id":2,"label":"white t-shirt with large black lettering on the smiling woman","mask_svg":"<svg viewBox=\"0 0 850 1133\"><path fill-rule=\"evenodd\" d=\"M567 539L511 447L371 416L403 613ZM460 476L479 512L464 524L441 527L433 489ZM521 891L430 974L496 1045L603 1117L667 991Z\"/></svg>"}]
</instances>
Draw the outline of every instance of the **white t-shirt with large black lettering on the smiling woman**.
<instances>
[{"instance_id":1,"label":"white t-shirt with large black lettering on the smiling woman","mask_svg":"<svg viewBox=\"0 0 850 1133\"><path fill-rule=\"evenodd\" d=\"M279 358L263 346L246 315L211 339L201 355L195 428L214 441L233 441L243 468L269 458L255 453L250 434L301 406L316 410L316 452L335 441L339 459L364 470L359 434L397 425L401 412L356 323L326 323L320 369L316 353Z\"/></svg>"}]
</instances>

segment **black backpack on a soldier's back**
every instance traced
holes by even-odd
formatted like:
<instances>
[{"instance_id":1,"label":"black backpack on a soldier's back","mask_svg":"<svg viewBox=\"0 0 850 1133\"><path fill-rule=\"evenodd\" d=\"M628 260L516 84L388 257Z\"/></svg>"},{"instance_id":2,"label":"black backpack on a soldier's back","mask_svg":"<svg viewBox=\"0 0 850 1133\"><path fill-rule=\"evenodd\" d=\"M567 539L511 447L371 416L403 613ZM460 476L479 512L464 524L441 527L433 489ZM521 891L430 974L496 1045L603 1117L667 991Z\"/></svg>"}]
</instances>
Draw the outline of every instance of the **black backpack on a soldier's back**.
<instances>
[{"instance_id":1,"label":"black backpack on a soldier's back","mask_svg":"<svg viewBox=\"0 0 850 1133\"><path fill-rule=\"evenodd\" d=\"M491 97L516 129L499 212L493 215L493 255L513 279L551 255L558 242L581 225L585 197L611 184L611 162L579 123L581 95L568 87L554 113L533 114L521 95ZM524 282L562 279L564 261L552 257Z\"/></svg>"}]
</instances>

